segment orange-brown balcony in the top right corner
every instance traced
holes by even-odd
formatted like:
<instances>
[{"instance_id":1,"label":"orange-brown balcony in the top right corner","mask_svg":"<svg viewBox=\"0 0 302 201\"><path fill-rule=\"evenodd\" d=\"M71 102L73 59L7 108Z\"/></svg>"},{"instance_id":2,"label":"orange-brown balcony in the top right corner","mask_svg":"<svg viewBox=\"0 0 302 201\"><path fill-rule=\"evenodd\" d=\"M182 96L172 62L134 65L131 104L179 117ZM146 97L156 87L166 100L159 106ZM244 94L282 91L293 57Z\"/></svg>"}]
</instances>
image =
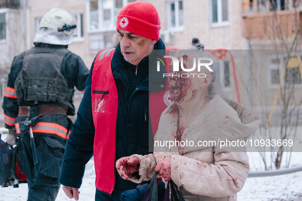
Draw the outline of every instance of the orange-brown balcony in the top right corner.
<instances>
[{"instance_id":1,"label":"orange-brown balcony in the top right corner","mask_svg":"<svg viewBox=\"0 0 302 201\"><path fill-rule=\"evenodd\" d=\"M294 38L302 22L300 0L243 0L242 11L243 36L250 40Z\"/></svg>"}]
</instances>

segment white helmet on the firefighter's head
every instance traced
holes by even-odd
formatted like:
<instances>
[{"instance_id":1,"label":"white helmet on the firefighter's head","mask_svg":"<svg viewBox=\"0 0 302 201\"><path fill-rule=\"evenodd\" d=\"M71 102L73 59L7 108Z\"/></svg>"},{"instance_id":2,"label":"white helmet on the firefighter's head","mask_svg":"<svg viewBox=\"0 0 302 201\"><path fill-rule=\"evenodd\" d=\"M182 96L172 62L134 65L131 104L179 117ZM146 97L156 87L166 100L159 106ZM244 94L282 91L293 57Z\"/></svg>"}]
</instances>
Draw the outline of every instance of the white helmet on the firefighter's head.
<instances>
[{"instance_id":1,"label":"white helmet on the firefighter's head","mask_svg":"<svg viewBox=\"0 0 302 201\"><path fill-rule=\"evenodd\" d=\"M51 28L54 30L60 30L69 26L73 26L76 22L74 14L61 9L54 8L47 12L41 19L39 29ZM72 29L63 31L64 34L68 35L72 33Z\"/></svg>"}]
</instances>

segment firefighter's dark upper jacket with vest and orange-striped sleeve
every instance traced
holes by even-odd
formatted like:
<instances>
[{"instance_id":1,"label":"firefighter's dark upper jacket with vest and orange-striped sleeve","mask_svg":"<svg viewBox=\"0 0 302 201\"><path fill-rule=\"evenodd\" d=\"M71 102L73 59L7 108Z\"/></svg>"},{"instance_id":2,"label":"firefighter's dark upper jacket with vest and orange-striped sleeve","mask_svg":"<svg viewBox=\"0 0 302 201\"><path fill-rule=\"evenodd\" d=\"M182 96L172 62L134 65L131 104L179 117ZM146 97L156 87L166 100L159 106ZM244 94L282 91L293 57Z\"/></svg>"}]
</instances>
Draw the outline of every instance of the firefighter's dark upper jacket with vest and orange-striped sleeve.
<instances>
[{"instance_id":1,"label":"firefighter's dark upper jacket with vest and orange-striped sleeve","mask_svg":"<svg viewBox=\"0 0 302 201\"><path fill-rule=\"evenodd\" d=\"M67 45L35 43L12 62L2 106L5 127L15 127L19 106L58 104L68 107L67 115L74 115L74 87L84 90L88 74L83 60L68 51ZM59 121L56 116L47 122Z\"/></svg>"}]
</instances>

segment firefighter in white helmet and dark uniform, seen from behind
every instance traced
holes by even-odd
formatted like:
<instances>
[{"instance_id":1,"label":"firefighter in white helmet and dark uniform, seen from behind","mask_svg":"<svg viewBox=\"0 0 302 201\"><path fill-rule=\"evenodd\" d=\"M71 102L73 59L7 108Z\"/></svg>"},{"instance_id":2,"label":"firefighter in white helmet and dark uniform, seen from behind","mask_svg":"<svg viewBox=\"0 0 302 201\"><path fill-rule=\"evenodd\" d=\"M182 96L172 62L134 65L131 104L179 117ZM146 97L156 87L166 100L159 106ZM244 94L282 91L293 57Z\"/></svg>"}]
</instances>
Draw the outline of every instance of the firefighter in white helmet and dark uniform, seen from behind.
<instances>
[{"instance_id":1,"label":"firefighter in white helmet and dark uniform, seen from behind","mask_svg":"<svg viewBox=\"0 0 302 201\"><path fill-rule=\"evenodd\" d=\"M67 115L75 115L74 87L83 91L89 74L83 60L67 49L75 27L72 13L51 9L41 19L34 47L14 58L8 75L3 103L7 143L17 144L28 200L55 200L60 187L72 127Z\"/></svg>"}]
</instances>

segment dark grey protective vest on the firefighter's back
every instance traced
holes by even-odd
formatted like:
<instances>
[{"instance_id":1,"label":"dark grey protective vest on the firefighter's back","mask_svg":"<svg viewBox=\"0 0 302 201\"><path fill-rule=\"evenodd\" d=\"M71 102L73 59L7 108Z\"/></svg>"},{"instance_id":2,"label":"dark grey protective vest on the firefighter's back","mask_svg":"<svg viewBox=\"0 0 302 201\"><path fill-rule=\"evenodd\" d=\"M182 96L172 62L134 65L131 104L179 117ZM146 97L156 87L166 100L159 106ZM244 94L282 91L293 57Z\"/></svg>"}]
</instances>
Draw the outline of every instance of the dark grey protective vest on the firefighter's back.
<instances>
[{"instance_id":1,"label":"dark grey protective vest on the firefighter's back","mask_svg":"<svg viewBox=\"0 0 302 201\"><path fill-rule=\"evenodd\" d=\"M69 113L75 113L72 105L74 89L68 88L68 81L61 73L61 64L68 52L66 48L37 46L25 53L15 82L18 103L54 102L67 106Z\"/></svg>"}]
</instances>

